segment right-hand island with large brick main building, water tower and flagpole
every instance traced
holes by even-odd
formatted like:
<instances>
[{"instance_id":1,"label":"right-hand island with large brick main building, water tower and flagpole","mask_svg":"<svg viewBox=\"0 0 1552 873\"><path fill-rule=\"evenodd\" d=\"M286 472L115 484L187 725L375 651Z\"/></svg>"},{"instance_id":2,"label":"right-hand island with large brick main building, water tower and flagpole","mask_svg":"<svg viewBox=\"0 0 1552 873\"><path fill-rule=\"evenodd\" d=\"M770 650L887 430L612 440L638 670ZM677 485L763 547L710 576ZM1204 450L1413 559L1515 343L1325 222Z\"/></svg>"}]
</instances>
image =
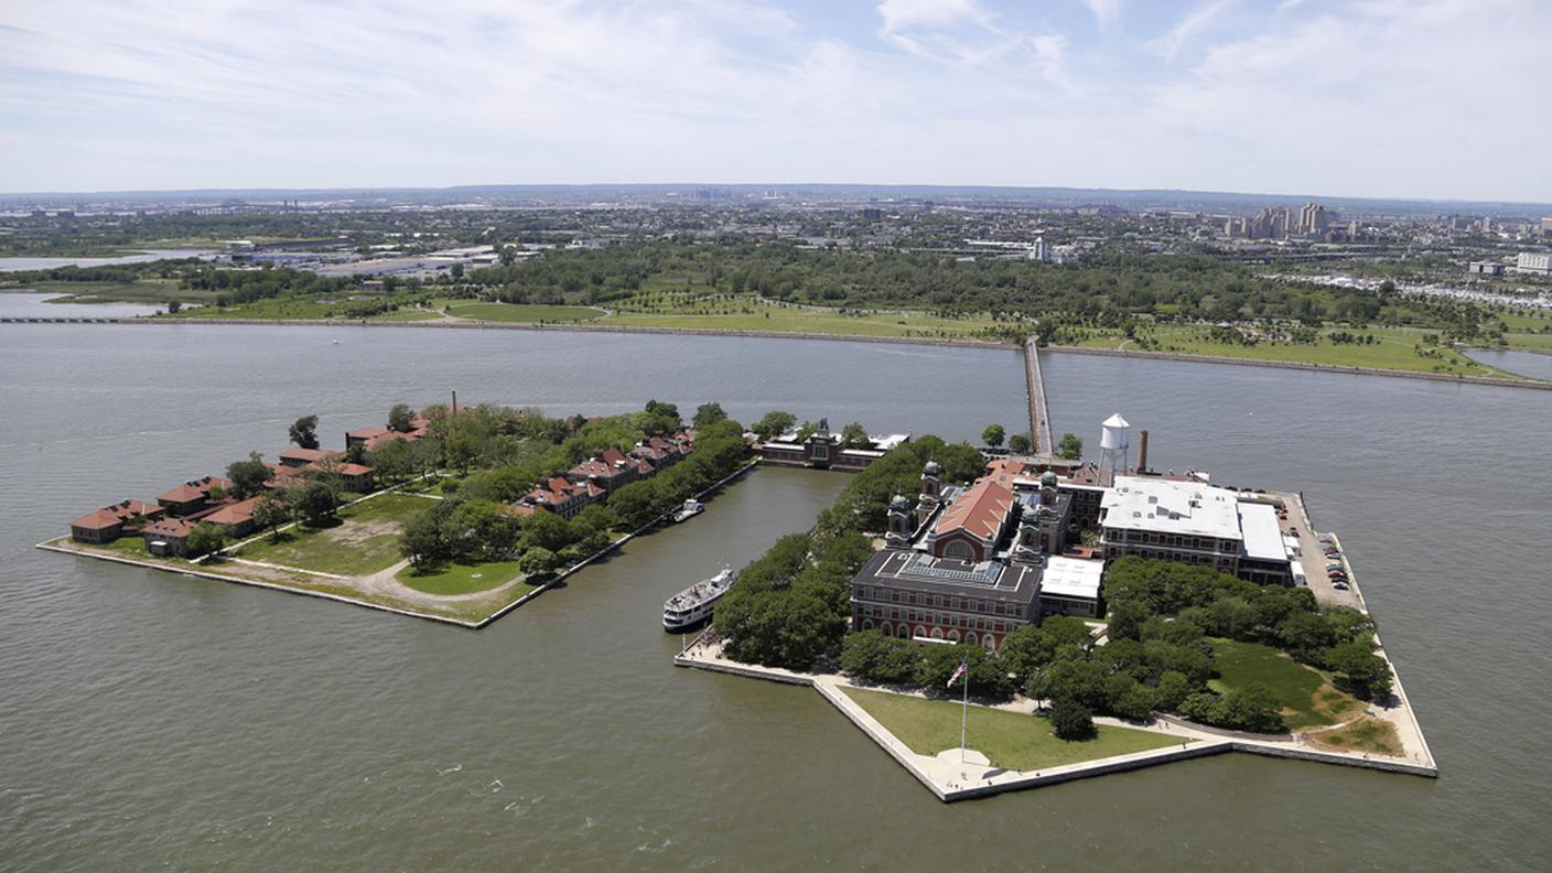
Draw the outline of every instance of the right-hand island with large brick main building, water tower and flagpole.
<instances>
[{"instance_id":1,"label":"right-hand island with large brick main building, water tower and flagpole","mask_svg":"<svg viewBox=\"0 0 1552 873\"><path fill-rule=\"evenodd\" d=\"M903 444L675 663L813 687L942 800L1229 750L1437 775L1302 494L1130 447L1121 415L1091 461Z\"/></svg>"}]
</instances>

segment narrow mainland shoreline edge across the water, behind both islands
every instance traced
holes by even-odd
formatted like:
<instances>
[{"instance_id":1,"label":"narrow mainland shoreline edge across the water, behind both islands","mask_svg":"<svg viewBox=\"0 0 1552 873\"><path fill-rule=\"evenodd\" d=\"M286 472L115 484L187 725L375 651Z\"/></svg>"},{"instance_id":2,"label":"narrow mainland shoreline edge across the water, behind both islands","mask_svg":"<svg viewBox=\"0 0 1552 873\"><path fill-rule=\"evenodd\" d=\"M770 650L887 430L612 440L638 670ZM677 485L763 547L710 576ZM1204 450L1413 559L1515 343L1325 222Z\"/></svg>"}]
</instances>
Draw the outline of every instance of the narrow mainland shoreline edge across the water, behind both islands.
<instances>
[{"instance_id":1,"label":"narrow mainland shoreline edge across the water, behind both islands","mask_svg":"<svg viewBox=\"0 0 1552 873\"><path fill-rule=\"evenodd\" d=\"M594 332L594 334L660 334L688 337L742 337L742 339L776 339L776 340L823 340L823 342L861 342L886 345L923 345L941 348L978 348L1018 351L1020 343L1001 340L967 340L967 339L933 339L933 337L878 337L868 334L821 334L812 331L739 331L723 328L653 328L633 325L590 325L585 322L566 322L556 325L517 323L517 322L340 322L315 318L64 318L64 317L9 317L0 318L8 325L227 325L227 326L286 326L286 328L436 328L458 331L559 331L559 332ZM1384 370L1378 367L1356 367L1346 363L1308 363L1302 360L1262 360L1251 357L1228 357L1218 354L1186 354L1178 351L1133 351L1114 348L1085 348L1074 345L1048 345L1040 351L1052 354L1088 354L1096 357L1138 357L1155 360L1180 360L1187 363L1223 363L1235 367L1263 367L1273 370L1304 370L1310 373L1344 373L1349 376L1386 376L1391 379L1425 379L1429 382L1454 382L1465 385L1495 385L1499 388L1532 388L1552 391L1552 381L1530 376L1509 379L1502 376L1451 376L1446 373L1423 373L1420 370ZM1529 350L1507 350L1529 351Z\"/></svg>"}]
</instances>

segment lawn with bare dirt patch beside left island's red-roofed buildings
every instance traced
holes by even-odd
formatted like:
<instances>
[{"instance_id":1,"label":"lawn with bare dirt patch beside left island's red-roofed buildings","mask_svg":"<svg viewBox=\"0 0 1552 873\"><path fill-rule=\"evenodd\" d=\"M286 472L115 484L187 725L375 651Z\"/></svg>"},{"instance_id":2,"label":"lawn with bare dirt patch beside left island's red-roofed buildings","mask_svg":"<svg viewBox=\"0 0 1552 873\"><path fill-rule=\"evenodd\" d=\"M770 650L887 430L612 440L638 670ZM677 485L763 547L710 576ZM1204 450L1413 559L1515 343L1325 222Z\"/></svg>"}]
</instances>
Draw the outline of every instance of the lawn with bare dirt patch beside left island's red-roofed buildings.
<instances>
[{"instance_id":1,"label":"lawn with bare dirt patch beside left island's red-roofed buildings","mask_svg":"<svg viewBox=\"0 0 1552 873\"><path fill-rule=\"evenodd\" d=\"M293 527L275 541L262 536L237 551L237 558L300 567L340 576L365 576L399 562L400 523L431 505L428 497L380 494L340 510L335 527Z\"/></svg>"}]
</instances>

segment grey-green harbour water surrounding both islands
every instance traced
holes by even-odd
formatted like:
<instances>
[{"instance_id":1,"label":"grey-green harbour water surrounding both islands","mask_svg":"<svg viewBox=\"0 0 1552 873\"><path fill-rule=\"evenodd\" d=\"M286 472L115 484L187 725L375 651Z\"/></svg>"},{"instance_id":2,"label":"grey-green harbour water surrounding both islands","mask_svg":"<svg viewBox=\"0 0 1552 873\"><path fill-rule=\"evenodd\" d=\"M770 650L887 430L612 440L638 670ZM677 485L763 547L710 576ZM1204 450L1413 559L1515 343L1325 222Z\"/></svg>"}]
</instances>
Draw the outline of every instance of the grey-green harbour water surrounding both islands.
<instances>
[{"instance_id":1,"label":"grey-green harbour water surrounding both islands","mask_svg":"<svg viewBox=\"0 0 1552 873\"><path fill-rule=\"evenodd\" d=\"M331 345L338 339L340 345ZM757 471L480 632L29 548L397 401L1021 429L1013 351L528 331L0 326L0 868L1541 870L1552 395L1052 356L1055 429L1304 488L1437 781L1240 755L939 805L816 694L680 671L661 601L801 530ZM331 441L338 440L338 436Z\"/></svg>"}]
</instances>

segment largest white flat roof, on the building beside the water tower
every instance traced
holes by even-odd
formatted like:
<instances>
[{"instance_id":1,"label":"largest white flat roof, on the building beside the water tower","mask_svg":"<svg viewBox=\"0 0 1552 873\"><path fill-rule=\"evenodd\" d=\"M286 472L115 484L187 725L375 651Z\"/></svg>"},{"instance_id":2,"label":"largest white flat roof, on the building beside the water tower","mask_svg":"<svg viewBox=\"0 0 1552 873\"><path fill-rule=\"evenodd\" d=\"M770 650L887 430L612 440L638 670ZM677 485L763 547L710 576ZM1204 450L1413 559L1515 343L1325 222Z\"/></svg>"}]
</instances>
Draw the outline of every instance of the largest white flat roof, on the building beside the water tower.
<instances>
[{"instance_id":1,"label":"largest white flat roof, on the building beside the water tower","mask_svg":"<svg viewBox=\"0 0 1552 873\"><path fill-rule=\"evenodd\" d=\"M1105 527L1240 539L1238 500L1226 488L1203 482L1173 482L1117 475L1100 508ZM1266 506L1271 510L1271 506ZM1276 511L1273 511L1276 528Z\"/></svg>"}]
</instances>

